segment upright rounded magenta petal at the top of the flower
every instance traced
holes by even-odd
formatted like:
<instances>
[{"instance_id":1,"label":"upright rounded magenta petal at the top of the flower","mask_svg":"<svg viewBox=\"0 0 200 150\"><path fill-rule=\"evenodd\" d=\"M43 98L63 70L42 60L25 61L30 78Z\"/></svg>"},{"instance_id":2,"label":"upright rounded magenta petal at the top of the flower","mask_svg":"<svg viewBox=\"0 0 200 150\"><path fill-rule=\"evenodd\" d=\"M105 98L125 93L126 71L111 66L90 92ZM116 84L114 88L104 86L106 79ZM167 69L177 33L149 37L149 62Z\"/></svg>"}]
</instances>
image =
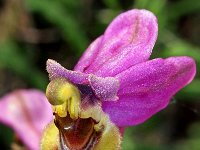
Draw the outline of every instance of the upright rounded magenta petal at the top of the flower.
<instances>
[{"instance_id":1,"label":"upright rounded magenta petal at the top of the flower","mask_svg":"<svg viewBox=\"0 0 200 150\"><path fill-rule=\"evenodd\" d=\"M87 60L92 61L78 63L76 70L102 77L114 76L144 62L151 55L157 30L157 19L147 10L135 9L122 13L108 26L102 39L93 44L95 54L91 55L91 48L84 53L84 58L89 55L93 58Z\"/></svg>"}]
</instances>

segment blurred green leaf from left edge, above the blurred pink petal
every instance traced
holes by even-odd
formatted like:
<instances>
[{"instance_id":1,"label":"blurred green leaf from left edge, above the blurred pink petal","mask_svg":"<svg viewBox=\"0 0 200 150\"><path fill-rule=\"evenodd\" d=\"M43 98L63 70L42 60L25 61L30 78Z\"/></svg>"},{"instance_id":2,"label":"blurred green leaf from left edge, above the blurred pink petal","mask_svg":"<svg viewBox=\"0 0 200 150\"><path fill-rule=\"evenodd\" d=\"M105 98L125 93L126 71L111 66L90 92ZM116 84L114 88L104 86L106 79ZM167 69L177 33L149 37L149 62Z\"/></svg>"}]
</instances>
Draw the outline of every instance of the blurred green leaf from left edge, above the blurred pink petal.
<instances>
[{"instance_id":1,"label":"blurred green leaf from left edge, above the blurred pink petal","mask_svg":"<svg viewBox=\"0 0 200 150\"><path fill-rule=\"evenodd\" d=\"M0 44L0 66L19 74L34 87L45 89L47 85L47 77L34 67L14 42Z\"/></svg>"}]
</instances>

